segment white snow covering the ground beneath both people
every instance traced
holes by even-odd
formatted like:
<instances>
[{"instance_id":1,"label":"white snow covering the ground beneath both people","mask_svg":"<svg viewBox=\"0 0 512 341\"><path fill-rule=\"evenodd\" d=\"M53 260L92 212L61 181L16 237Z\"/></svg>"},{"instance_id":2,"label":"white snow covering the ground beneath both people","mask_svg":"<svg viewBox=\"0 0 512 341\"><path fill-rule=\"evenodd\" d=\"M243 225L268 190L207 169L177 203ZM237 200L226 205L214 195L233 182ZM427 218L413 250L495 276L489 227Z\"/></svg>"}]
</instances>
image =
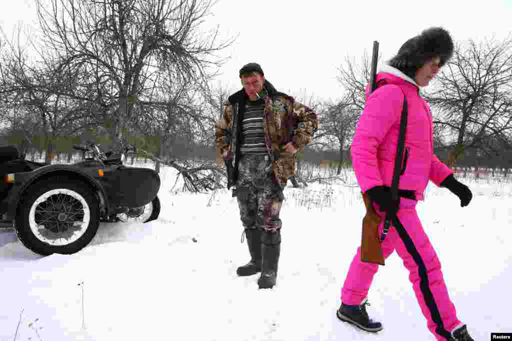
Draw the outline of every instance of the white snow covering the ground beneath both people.
<instances>
[{"instance_id":1,"label":"white snow covering the ground beneath both people","mask_svg":"<svg viewBox=\"0 0 512 341\"><path fill-rule=\"evenodd\" d=\"M434 340L396 253L369 292L384 329L335 316L364 215L353 175L348 185L285 189L278 281L263 290L259 274L236 275L249 260L236 198L170 191L175 175L161 169L158 220L102 223L77 254L0 247L0 340ZM431 184L417 208L459 319L484 340L511 331L512 185L461 180L473 190L469 207Z\"/></svg>"}]
</instances>

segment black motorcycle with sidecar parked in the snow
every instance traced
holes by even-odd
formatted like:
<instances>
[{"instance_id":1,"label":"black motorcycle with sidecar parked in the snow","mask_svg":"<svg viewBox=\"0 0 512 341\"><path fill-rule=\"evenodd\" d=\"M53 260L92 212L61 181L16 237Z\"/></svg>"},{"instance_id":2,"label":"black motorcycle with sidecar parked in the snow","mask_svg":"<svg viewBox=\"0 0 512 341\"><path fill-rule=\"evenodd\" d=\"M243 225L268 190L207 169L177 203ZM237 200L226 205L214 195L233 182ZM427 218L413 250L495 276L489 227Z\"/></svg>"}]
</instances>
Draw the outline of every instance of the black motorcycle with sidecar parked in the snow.
<instances>
[{"instance_id":1,"label":"black motorcycle with sidecar parked in the snow","mask_svg":"<svg viewBox=\"0 0 512 341\"><path fill-rule=\"evenodd\" d=\"M114 221L119 214L143 216L144 207L151 206L146 222L160 212L160 177L152 169L94 158L71 165L34 163L12 146L0 147L0 155L0 215L40 255L80 251L100 221Z\"/></svg>"}]
</instances>

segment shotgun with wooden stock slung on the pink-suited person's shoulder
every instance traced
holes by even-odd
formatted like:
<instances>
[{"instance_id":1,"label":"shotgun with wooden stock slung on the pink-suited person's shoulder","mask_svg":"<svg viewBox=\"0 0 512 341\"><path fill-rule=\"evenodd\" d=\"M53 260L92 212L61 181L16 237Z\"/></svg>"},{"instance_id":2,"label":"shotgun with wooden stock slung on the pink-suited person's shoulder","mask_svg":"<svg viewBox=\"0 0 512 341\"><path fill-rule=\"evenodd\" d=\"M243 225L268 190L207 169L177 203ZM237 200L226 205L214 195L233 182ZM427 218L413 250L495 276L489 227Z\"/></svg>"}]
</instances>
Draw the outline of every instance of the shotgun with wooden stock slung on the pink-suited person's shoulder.
<instances>
[{"instance_id":1,"label":"shotgun with wooden stock slung on the pink-suited person's shoulder","mask_svg":"<svg viewBox=\"0 0 512 341\"><path fill-rule=\"evenodd\" d=\"M379 53L378 41L373 42L372 64L370 71L370 94L376 88L375 78L377 74L377 59ZM370 96L370 94L368 96ZM362 236L361 236L361 261L373 264L384 265L384 257L382 256L382 247L380 246L380 238L378 228L381 218L373 208L372 200L366 193L362 194L362 200L365 203L366 215L362 218Z\"/></svg>"}]
</instances>

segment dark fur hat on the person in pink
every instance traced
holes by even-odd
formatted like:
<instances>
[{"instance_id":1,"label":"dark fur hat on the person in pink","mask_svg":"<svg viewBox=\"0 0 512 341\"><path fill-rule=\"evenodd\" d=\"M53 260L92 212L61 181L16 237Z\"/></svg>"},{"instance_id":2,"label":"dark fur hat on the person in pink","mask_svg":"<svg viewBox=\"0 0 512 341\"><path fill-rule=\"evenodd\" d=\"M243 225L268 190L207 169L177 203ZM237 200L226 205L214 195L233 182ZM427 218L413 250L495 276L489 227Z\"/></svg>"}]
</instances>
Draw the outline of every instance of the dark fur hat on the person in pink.
<instances>
[{"instance_id":1,"label":"dark fur hat on the person in pink","mask_svg":"<svg viewBox=\"0 0 512 341\"><path fill-rule=\"evenodd\" d=\"M414 79L416 71L434 57L439 57L443 66L452 58L453 49L450 33L441 27L432 27L407 40L389 65Z\"/></svg>"}]
</instances>

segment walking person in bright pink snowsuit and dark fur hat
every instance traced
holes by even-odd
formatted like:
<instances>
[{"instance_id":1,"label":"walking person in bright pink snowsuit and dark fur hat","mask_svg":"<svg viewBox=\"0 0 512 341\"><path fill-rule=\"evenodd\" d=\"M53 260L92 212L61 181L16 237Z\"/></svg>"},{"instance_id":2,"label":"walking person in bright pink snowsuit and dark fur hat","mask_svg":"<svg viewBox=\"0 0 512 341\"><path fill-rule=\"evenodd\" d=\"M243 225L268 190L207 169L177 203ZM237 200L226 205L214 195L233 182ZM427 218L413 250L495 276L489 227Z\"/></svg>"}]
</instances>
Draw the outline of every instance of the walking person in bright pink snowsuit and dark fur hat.
<instances>
[{"instance_id":1,"label":"walking person in bright pink snowsuit and dark fur hat","mask_svg":"<svg viewBox=\"0 0 512 341\"><path fill-rule=\"evenodd\" d=\"M472 199L470 189L459 183L452 169L434 155L432 113L419 95L419 88L428 85L452 55L452 38L442 28L424 30L404 43L376 76L377 89L367 96L351 154L361 191L368 194L382 218L381 235L386 212L393 209L390 187L405 96L408 122L399 180L399 208L381 242L382 253L386 259L396 251L403 260L427 327L437 340L473 341L466 325L457 317L441 264L415 209L417 200L423 200L429 180L456 194L461 207ZM382 329L382 324L370 319L366 311L368 290L377 270L377 264L361 261L357 248L343 285L342 305L336 311L340 320L371 332Z\"/></svg>"}]
</instances>

